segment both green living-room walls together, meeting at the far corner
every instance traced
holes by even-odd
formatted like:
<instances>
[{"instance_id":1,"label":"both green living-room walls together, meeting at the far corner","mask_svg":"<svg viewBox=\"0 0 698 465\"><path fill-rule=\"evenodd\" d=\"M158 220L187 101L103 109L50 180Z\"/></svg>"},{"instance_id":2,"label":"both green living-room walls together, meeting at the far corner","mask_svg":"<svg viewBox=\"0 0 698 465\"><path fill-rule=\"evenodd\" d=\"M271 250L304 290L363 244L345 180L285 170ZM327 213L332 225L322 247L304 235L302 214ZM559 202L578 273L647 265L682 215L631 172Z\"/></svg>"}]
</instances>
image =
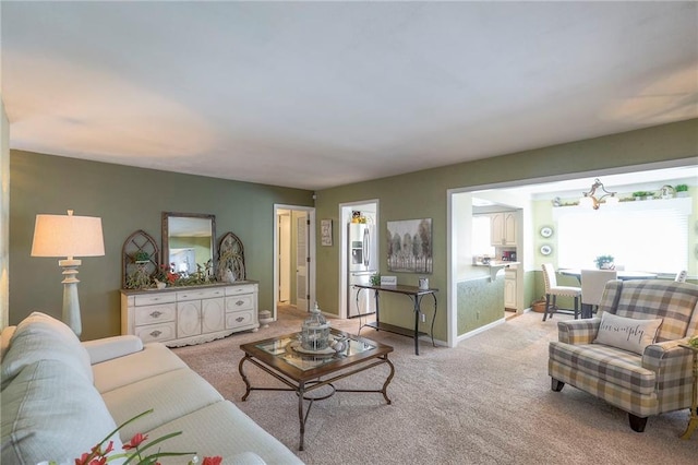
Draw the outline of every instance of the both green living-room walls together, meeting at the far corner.
<instances>
[{"instance_id":1,"label":"both green living-room walls together, meeting at the far corner","mask_svg":"<svg viewBox=\"0 0 698 465\"><path fill-rule=\"evenodd\" d=\"M688 158L697 155L698 119L693 119L322 190L315 201L315 217L333 219L337 230L340 203L377 199L381 230L390 220L432 218L434 272L429 278L432 287L441 289L435 336L446 341L446 309L450 303L446 260L448 189L684 158L695 164L695 158ZM76 215L103 218L106 255L83 259L79 275L83 339L119 333L121 247L137 229L159 239L163 211L215 214L218 237L226 231L238 235L245 247L248 277L260 282L260 309L270 309L274 204L313 205L312 192L306 190L21 151L11 151L10 171L9 324L16 324L35 309L57 317L61 312L58 260L29 257L36 214L61 214L72 208ZM320 238L320 220L316 228ZM339 302L337 233L334 239L332 247L316 247L316 300L329 313L338 312ZM387 274L385 247L380 247L381 272ZM417 274L395 275L401 284L418 284ZM527 287L531 286L527 282ZM538 294L533 289L528 293ZM405 306L404 296L386 296L381 301L382 315L388 322L409 326L412 315L405 312Z\"/></svg>"}]
</instances>

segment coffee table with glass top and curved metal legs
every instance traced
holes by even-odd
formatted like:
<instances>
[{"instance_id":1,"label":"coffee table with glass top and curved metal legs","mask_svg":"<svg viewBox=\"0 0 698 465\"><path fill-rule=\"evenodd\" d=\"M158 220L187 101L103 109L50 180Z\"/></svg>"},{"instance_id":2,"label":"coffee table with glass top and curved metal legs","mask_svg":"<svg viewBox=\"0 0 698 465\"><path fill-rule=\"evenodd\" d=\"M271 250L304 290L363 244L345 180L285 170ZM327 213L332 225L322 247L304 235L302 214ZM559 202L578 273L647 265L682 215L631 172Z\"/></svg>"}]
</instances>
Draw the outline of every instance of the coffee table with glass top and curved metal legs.
<instances>
[{"instance_id":1,"label":"coffee table with glass top and curved metal legs","mask_svg":"<svg viewBox=\"0 0 698 465\"><path fill-rule=\"evenodd\" d=\"M385 402L390 404L387 388L395 375L395 367L388 360L388 354L393 351L393 347L335 329L330 330L330 337L344 343L344 348L339 351L334 349L316 353L304 350L300 345L300 333L286 334L240 346L244 351L244 357L240 360L238 368L246 386L242 401L246 401L252 391L292 391L298 395L298 418L300 421L300 445L298 449L300 451L303 450L305 421L314 401L328 398L335 392L364 392L381 393ZM266 371L288 388L253 386L244 372L246 362ZM381 365L387 365L390 369L381 389L337 389L333 384L344 378ZM315 396L312 395L314 391L317 391ZM308 401L308 408L305 408L305 401Z\"/></svg>"}]
</instances>

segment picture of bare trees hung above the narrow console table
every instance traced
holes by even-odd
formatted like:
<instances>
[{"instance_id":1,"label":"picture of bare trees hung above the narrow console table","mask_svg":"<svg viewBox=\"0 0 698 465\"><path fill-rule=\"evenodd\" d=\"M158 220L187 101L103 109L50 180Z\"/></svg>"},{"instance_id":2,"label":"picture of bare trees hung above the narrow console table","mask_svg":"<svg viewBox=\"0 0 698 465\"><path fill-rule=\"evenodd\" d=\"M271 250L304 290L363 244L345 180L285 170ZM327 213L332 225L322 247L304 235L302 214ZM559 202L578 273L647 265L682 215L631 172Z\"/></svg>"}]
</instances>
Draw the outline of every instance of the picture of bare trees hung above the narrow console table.
<instances>
[{"instance_id":1,"label":"picture of bare trees hung above the narrow console table","mask_svg":"<svg viewBox=\"0 0 698 465\"><path fill-rule=\"evenodd\" d=\"M388 222L388 271L432 273L432 218Z\"/></svg>"}]
</instances>

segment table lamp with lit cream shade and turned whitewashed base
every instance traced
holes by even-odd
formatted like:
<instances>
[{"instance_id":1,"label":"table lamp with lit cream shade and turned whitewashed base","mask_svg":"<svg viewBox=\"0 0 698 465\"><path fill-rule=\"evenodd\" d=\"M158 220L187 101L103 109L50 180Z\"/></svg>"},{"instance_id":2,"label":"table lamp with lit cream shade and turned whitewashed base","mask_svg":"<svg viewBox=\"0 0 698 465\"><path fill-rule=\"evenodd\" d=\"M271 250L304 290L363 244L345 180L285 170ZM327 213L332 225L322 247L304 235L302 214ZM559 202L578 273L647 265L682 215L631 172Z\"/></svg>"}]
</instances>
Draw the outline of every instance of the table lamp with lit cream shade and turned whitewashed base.
<instances>
[{"instance_id":1,"label":"table lamp with lit cream shade and turned whitewashed base","mask_svg":"<svg viewBox=\"0 0 698 465\"><path fill-rule=\"evenodd\" d=\"M63 314L65 324L80 337L82 323L77 300L77 266L75 257L101 257L105 242L101 235L101 218L93 216L36 215L32 257L65 257L58 265L63 267Z\"/></svg>"}]
</instances>

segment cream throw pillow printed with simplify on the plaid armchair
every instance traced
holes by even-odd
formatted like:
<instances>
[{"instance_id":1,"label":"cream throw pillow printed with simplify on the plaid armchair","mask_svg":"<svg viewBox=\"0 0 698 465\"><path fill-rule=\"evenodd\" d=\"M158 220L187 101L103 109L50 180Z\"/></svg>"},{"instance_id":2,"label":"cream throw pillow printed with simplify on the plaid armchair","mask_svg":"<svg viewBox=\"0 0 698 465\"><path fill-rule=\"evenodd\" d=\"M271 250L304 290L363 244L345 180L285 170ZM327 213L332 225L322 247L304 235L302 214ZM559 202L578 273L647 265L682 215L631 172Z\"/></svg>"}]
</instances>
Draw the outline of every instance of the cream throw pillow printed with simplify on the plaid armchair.
<instances>
[{"instance_id":1,"label":"cream throw pillow printed with simplify on the plaid armchair","mask_svg":"<svg viewBox=\"0 0 698 465\"><path fill-rule=\"evenodd\" d=\"M604 311L593 342L642 355L645 347L654 342L662 321L618 317Z\"/></svg>"}]
</instances>

